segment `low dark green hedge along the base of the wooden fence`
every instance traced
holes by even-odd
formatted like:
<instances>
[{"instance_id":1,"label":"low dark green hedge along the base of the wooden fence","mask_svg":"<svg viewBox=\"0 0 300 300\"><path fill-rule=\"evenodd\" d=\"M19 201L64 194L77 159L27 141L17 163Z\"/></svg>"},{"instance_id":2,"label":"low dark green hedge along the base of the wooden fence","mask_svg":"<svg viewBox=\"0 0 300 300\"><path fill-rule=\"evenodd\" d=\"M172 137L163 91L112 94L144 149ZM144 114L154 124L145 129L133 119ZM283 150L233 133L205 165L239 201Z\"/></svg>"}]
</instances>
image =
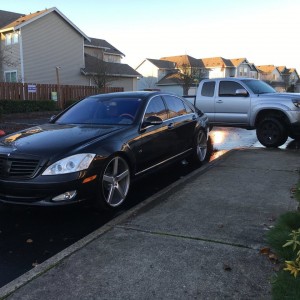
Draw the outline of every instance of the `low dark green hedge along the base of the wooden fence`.
<instances>
[{"instance_id":1,"label":"low dark green hedge along the base of the wooden fence","mask_svg":"<svg viewBox=\"0 0 300 300\"><path fill-rule=\"evenodd\" d=\"M0 116L1 113L13 114L55 110L57 110L57 104L51 100L0 100Z\"/></svg>"}]
</instances>

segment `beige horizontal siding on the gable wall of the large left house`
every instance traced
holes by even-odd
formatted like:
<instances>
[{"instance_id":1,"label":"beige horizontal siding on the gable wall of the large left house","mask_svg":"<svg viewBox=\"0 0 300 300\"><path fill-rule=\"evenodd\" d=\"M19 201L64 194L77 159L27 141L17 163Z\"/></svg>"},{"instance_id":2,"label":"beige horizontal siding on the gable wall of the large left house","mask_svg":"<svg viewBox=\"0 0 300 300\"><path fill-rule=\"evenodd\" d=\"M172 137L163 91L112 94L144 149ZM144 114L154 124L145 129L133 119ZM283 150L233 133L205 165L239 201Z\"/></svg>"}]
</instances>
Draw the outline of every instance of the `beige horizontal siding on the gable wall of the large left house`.
<instances>
[{"instance_id":1,"label":"beige horizontal siding on the gable wall of the large left house","mask_svg":"<svg viewBox=\"0 0 300 300\"><path fill-rule=\"evenodd\" d=\"M83 37L52 12L22 28L24 80L60 84L82 84Z\"/></svg>"}]
</instances>

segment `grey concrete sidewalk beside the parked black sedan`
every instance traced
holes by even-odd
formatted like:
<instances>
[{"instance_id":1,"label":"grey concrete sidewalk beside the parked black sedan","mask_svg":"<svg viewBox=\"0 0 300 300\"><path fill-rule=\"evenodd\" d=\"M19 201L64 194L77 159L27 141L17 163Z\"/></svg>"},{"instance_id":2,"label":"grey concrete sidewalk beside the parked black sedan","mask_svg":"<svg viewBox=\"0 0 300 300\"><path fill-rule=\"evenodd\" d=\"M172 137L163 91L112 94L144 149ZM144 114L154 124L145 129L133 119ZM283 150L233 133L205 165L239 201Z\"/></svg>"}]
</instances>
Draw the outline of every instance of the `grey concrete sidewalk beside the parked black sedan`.
<instances>
[{"instance_id":1,"label":"grey concrete sidewalk beside the parked black sedan","mask_svg":"<svg viewBox=\"0 0 300 300\"><path fill-rule=\"evenodd\" d=\"M4 286L0 298L271 299L274 265L260 249L276 218L297 208L299 158L299 150L229 151Z\"/></svg>"}]
</instances>

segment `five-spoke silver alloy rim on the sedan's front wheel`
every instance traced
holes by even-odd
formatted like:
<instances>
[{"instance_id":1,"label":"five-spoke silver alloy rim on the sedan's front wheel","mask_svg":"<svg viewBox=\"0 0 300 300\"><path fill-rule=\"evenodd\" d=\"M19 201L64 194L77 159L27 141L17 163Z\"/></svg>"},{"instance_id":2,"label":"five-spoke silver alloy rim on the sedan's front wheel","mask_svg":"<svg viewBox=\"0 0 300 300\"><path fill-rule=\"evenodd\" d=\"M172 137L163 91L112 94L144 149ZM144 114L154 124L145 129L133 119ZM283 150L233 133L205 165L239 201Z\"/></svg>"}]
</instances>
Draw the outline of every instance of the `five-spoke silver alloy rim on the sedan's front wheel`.
<instances>
[{"instance_id":1,"label":"five-spoke silver alloy rim on the sedan's front wheel","mask_svg":"<svg viewBox=\"0 0 300 300\"><path fill-rule=\"evenodd\" d=\"M110 207L120 206L130 186L130 171L125 159L113 157L107 164L102 178L103 200Z\"/></svg>"}]
</instances>

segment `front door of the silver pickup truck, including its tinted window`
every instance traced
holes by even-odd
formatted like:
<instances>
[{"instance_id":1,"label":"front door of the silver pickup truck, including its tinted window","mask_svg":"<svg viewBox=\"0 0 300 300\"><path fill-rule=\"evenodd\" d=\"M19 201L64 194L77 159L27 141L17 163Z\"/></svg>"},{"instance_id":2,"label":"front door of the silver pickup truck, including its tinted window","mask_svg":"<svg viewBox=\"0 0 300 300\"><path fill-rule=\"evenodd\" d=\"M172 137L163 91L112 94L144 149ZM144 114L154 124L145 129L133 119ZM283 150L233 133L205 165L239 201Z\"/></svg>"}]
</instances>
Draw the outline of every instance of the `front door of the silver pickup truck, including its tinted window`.
<instances>
[{"instance_id":1,"label":"front door of the silver pickup truck, including its tinted window","mask_svg":"<svg viewBox=\"0 0 300 300\"><path fill-rule=\"evenodd\" d=\"M215 123L247 125L250 114L250 96L237 95L238 89L245 89L234 81L220 80L215 98Z\"/></svg>"}]
</instances>

